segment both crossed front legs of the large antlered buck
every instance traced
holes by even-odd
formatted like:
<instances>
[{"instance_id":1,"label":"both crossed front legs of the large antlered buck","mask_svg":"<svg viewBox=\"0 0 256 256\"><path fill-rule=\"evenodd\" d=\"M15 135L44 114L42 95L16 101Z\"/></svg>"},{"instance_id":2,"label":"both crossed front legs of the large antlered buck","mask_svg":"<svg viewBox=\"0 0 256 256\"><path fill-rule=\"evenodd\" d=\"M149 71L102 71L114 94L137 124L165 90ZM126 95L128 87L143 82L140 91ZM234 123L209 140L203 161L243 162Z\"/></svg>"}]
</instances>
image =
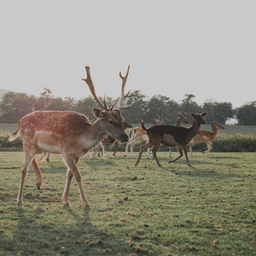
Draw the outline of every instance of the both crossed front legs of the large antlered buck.
<instances>
[{"instance_id":1,"label":"both crossed front legs of the large antlered buck","mask_svg":"<svg viewBox=\"0 0 256 256\"><path fill-rule=\"evenodd\" d=\"M83 188L83 183L82 183L82 177L81 177L81 173L79 172L78 166L76 165L77 162L79 161L79 158L73 158L71 155L65 155L63 154L63 159L65 160L66 164L67 164L67 168L69 168L69 170L72 172L73 176L75 177L78 185L79 185L79 192L80 192L80 197L81 197L81 201L83 203L83 207L84 208L90 208L90 204L87 201L87 198L84 194L84 188ZM67 176L67 183L66 183L66 187L64 190L64 199L62 197L62 202L64 201L64 203L68 203L67 201L67 195L68 195L68 189L70 187L70 182L71 182L71 174L68 173ZM64 205L65 206L65 205Z\"/></svg>"}]
</instances>

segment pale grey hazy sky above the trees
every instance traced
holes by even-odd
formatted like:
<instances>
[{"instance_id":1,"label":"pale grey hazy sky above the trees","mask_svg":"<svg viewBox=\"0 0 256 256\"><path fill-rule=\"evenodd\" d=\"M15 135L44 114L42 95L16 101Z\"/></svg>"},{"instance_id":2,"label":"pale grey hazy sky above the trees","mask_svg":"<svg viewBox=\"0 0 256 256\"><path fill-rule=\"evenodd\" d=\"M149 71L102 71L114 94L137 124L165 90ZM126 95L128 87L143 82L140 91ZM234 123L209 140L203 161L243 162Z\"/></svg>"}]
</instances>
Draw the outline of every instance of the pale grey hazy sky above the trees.
<instances>
[{"instance_id":1,"label":"pale grey hazy sky above the trees","mask_svg":"<svg viewBox=\"0 0 256 256\"><path fill-rule=\"evenodd\" d=\"M0 89L256 101L256 1L2 1Z\"/></svg>"}]
</instances>

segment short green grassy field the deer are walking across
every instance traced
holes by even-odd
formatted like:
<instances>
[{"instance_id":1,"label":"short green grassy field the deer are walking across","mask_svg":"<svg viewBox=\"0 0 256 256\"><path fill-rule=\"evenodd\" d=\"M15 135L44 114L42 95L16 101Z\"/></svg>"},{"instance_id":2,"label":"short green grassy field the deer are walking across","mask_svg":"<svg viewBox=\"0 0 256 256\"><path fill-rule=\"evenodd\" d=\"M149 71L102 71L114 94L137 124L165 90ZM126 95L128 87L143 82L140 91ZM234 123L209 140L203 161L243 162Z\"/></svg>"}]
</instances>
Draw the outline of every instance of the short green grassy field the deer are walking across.
<instances>
[{"instance_id":1,"label":"short green grassy field the deer are walking across","mask_svg":"<svg viewBox=\"0 0 256 256\"><path fill-rule=\"evenodd\" d=\"M173 153L174 156L177 153ZM119 153L81 159L90 210L73 180L63 208L66 167L60 155L30 168L16 204L21 152L0 152L0 255L256 255L255 153L195 153L163 168L146 154L139 166Z\"/></svg>"}]
</instances>

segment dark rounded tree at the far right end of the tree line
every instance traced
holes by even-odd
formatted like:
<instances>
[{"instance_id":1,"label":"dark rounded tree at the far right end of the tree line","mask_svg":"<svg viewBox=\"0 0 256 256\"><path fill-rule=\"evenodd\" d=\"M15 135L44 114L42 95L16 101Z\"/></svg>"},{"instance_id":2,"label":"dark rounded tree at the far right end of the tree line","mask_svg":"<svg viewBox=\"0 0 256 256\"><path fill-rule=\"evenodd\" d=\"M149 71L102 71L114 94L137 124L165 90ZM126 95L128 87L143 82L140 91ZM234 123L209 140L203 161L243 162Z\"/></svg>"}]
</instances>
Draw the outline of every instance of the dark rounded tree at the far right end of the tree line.
<instances>
[{"instance_id":1,"label":"dark rounded tree at the far right end of the tree line","mask_svg":"<svg viewBox=\"0 0 256 256\"><path fill-rule=\"evenodd\" d=\"M236 109L238 125L256 125L256 102L248 102Z\"/></svg>"}]
</instances>

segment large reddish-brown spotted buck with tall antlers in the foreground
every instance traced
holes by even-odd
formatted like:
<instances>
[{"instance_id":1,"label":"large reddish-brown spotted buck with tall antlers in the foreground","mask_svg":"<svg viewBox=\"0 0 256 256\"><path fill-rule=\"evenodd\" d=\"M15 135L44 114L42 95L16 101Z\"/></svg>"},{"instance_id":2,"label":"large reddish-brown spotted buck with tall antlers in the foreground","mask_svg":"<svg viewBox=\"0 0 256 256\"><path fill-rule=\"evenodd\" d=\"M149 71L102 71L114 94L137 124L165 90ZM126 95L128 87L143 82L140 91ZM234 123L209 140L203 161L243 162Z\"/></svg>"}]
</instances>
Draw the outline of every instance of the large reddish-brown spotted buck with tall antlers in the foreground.
<instances>
[{"instance_id":1,"label":"large reddish-brown spotted buck with tall antlers in the foreground","mask_svg":"<svg viewBox=\"0 0 256 256\"><path fill-rule=\"evenodd\" d=\"M24 161L20 174L20 189L17 196L17 203L23 202L23 187L25 177L30 164L35 172L36 185L40 189L42 184L42 174L35 159L36 154L45 152L61 154L67 166L66 185L62 194L63 207L69 207L68 193L73 176L79 188L80 199L84 209L90 208L90 203L84 194L81 173L79 172L79 158L86 154L90 148L95 147L104 137L110 135L120 143L128 141L129 137L125 133L125 119L121 115L121 109L131 108L121 107L121 103L129 95L130 90L125 95L125 84L130 66L128 66L125 77L121 72L122 89L119 101L107 107L105 96L102 103L96 96L94 84L90 76L90 67L86 66L87 74L84 82L89 86L90 92L101 108L92 108L96 121L90 120L82 113L73 111L35 111L26 114L20 119L19 128L10 137L9 141L21 136L24 151Z\"/></svg>"}]
</instances>

